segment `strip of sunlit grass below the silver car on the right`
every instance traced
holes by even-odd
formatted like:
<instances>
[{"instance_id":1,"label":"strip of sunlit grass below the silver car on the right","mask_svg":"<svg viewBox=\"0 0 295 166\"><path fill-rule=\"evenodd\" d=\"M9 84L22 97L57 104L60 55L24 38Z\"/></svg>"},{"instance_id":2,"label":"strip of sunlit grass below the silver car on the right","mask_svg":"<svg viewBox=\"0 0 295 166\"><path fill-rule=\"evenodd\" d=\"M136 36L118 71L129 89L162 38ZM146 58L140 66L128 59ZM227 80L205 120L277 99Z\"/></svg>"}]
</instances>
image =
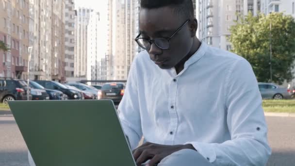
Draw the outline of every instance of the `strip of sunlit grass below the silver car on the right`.
<instances>
[{"instance_id":1,"label":"strip of sunlit grass below the silver car on the right","mask_svg":"<svg viewBox=\"0 0 295 166\"><path fill-rule=\"evenodd\" d=\"M263 100L264 112L295 113L295 100Z\"/></svg>"}]
</instances>

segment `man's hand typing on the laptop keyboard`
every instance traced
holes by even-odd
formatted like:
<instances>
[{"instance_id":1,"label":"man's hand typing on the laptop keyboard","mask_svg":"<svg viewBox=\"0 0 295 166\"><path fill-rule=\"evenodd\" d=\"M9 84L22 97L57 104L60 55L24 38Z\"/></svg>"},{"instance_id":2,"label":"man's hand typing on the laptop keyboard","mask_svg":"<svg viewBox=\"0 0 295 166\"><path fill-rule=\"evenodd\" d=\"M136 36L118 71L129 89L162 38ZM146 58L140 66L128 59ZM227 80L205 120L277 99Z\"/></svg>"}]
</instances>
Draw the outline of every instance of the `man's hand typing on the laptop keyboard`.
<instances>
[{"instance_id":1,"label":"man's hand typing on the laptop keyboard","mask_svg":"<svg viewBox=\"0 0 295 166\"><path fill-rule=\"evenodd\" d=\"M137 149L133 150L133 157L136 161L137 166L141 166L143 163L149 163L147 166L154 166L159 164L161 160L170 154L182 150L182 149L193 149L196 150L192 145L159 145L147 142Z\"/></svg>"}]
</instances>

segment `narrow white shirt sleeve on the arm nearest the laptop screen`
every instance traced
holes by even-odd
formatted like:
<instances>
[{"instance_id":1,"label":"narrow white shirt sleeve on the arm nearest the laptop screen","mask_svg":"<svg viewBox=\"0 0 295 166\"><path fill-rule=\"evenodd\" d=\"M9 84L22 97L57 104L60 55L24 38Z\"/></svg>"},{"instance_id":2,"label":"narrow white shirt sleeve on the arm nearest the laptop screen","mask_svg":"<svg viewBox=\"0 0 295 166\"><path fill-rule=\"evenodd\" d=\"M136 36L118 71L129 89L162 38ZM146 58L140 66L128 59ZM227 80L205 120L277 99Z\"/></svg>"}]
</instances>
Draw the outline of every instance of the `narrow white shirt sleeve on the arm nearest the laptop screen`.
<instances>
[{"instance_id":1,"label":"narrow white shirt sleeve on the arm nearest the laptop screen","mask_svg":"<svg viewBox=\"0 0 295 166\"><path fill-rule=\"evenodd\" d=\"M138 146L142 137L136 78L136 60L134 60L129 72L123 99L118 107L119 118L123 130L128 136L131 149L135 149Z\"/></svg>"}]
</instances>

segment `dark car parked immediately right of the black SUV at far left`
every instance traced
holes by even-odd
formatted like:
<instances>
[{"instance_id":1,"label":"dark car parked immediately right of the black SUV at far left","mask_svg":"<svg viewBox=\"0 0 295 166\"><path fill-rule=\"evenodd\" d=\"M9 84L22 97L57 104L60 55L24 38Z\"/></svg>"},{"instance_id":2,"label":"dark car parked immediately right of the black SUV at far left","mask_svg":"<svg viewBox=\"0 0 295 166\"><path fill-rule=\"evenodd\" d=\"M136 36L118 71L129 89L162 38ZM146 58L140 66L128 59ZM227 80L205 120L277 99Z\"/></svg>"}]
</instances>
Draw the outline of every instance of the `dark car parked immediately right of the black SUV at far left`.
<instances>
[{"instance_id":1,"label":"dark car parked immediately right of the black SUV at far left","mask_svg":"<svg viewBox=\"0 0 295 166\"><path fill-rule=\"evenodd\" d=\"M45 90L49 94L50 100L67 100L67 96L63 92L58 90L45 89L42 85L34 81L30 81L30 87L34 89Z\"/></svg>"}]
</instances>

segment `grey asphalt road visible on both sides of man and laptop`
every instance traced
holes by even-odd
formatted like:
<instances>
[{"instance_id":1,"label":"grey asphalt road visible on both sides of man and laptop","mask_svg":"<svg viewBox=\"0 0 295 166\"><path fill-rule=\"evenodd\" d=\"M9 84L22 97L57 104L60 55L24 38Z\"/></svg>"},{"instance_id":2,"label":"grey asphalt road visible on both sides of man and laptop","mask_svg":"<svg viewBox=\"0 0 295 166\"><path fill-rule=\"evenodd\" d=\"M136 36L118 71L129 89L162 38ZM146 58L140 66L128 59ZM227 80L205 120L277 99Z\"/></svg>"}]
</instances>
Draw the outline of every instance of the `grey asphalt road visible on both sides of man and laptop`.
<instances>
[{"instance_id":1,"label":"grey asphalt road visible on both sides of man and laptop","mask_svg":"<svg viewBox=\"0 0 295 166\"><path fill-rule=\"evenodd\" d=\"M266 120L273 149L267 166L294 166L295 118L266 117ZM29 166L27 150L13 116L0 112L0 166Z\"/></svg>"}]
</instances>

